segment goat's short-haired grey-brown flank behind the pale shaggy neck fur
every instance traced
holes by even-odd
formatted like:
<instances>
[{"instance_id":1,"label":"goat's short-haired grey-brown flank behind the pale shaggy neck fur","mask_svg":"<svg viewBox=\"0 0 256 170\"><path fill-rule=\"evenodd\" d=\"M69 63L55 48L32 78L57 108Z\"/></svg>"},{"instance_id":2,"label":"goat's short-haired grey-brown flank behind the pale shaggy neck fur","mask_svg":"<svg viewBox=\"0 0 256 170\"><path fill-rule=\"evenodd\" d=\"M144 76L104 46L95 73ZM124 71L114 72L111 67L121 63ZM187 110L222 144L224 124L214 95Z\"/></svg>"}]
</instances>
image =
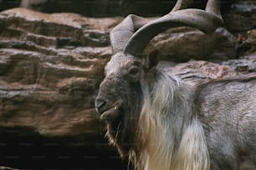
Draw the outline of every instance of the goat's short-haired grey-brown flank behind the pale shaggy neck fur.
<instances>
[{"instance_id":1,"label":"goat's short-haired grey-brown flank behind the pale shaggy neck fur","mask_svg":"<svg viewBox=\"0 0 256 170\"><path fill-rule=\"evenodd\" d=\"M256 77L208 82L195 94L212 169L255 169Z\"/></svg>"}]
</instances>

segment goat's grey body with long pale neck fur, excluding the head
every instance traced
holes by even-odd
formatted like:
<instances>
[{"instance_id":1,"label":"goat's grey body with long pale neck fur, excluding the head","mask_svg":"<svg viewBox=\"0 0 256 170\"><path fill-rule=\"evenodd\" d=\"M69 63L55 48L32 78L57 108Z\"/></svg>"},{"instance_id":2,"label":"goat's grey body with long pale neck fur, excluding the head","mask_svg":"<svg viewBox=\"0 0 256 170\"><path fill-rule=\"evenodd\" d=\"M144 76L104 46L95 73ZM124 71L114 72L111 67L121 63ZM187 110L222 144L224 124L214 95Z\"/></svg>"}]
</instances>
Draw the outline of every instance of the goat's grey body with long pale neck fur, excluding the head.
<instances>
[{"instance_id":1,"label":"goat's grey body with long pale neck fur, excluding the head","mask_svg":"<svg viewBox=\"0 0 256 170\"><path fill-rule=\"evenodd\" d=\"M256 168L256 77L189 87L157 74L142 83L139 169Z\"/></svg>"}]
</instances>

